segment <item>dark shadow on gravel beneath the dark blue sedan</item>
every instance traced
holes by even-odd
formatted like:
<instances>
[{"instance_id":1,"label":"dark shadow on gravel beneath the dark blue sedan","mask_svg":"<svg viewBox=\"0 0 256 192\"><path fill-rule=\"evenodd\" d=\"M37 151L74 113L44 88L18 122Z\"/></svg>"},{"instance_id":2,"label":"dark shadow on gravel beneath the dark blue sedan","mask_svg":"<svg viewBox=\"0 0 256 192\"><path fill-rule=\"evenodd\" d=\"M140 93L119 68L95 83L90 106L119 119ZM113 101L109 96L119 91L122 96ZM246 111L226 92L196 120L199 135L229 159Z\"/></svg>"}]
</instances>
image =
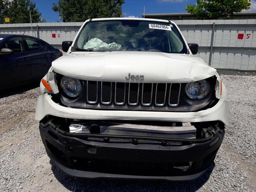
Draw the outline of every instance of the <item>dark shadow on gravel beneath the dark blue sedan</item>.
<instances>
[{"instance_id":1,"label":"dark shadow on gravel beneath the dark blue sedan","mask_svg":"<svg viewBox=\"0 0 256 192\"><path fill-rule=\"evenodd\" d=\"M14 87L14 88L6 89L6 90L1 90L0 98L4 98L4 97L16 95L16 94L23 94L23 93L27 92L28 90L39 87L39 85L40 85L40 82L38 81L38 82L26 84L26 85L20 85L20 86Z\"/></svg>"}]
</instances>

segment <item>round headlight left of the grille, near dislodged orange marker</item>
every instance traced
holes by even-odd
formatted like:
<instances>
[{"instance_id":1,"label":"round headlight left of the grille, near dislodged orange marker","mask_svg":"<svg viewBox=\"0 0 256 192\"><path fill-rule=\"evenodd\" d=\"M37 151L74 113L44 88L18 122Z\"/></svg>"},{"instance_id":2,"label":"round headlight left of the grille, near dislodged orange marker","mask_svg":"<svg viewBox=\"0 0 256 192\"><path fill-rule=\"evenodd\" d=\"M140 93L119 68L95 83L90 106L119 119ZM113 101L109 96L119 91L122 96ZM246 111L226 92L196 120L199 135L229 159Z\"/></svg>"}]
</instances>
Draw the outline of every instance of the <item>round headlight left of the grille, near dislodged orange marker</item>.
<instances>
[{"instance_id":1,"label":"round headlight left of the grille, near dislodged orange marker","mask_svg":"<svg viewBox=\"0 0 256 192\"><path fill-rule=\"evenodd\" d=\"M82 92L82 82L79 79L63 76L60 80L60 87L64 94L75 98Z\"/></svg>"}]
</instances>

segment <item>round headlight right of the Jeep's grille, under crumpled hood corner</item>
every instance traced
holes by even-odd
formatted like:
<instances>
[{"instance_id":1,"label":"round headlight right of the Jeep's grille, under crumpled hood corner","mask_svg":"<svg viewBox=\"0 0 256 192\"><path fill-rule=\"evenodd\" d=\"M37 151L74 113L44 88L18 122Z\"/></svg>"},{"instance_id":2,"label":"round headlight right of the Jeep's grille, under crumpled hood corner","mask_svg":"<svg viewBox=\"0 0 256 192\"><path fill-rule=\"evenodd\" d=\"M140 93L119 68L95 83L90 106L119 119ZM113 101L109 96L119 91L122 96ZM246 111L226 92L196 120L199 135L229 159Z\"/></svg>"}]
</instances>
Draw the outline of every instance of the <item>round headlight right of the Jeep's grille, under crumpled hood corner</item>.
<instances>
[{"instance_id":1,"label":"round headlight right of the Jeep's grille, under crumpled hood corner","mask_svg":"<svg viewBox=\"0 0 256 192\"><path fill-rule=\"evenodd\" d=\"M186 94L190 99L198 100L206 97L210 92L210 84L207 80L200 80L186 84Z\"/></svg>"}]
</instances>

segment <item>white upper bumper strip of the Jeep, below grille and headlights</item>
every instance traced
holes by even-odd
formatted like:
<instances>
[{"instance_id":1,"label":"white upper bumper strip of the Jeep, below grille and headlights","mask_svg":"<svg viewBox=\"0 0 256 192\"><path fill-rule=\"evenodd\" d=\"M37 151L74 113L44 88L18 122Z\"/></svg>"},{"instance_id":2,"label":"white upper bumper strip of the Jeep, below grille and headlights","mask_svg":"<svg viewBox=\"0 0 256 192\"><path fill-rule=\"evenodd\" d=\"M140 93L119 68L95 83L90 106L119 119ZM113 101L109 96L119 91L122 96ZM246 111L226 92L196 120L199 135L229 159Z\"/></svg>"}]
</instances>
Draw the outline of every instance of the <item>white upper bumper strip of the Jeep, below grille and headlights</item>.
<instances>
[{"instance_id":1,"label":"white upper bumper strip of the Jeep, below grille and headlights","mask_svg":"<svg viewBox=\"0 0 256 192\"><path fill-rule=\"evenodd\" d=\"M207 122L218 120L228 125L228 113L228 101L224 99L220 99L212 108L196 112L150 112L70 108L57 104L49 94L40 95L36 106L36 120L38 121L41 121L47 115L52 115L81 120L156 120L169 122Z\"/></svg>"}]
</instances>

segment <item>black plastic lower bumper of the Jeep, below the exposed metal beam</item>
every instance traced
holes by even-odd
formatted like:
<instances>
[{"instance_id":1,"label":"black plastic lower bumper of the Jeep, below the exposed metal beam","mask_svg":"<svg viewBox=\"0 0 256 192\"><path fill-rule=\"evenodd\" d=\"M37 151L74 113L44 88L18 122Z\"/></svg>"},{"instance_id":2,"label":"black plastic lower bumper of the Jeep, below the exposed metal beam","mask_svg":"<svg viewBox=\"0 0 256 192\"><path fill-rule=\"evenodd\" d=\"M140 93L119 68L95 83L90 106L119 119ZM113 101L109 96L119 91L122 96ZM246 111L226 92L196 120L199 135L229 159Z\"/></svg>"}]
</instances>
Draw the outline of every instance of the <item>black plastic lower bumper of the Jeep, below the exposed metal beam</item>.
<instances>
[{"instance_id":1,"label":"black plastic lower bumper of the Jeep, below the exposed metal beam","mask_svg":"<svg viewBox=\"0 0 256 192\"><path fill-rule=\"evenodd\" d=\"M50 123L39 126L46 152L70 176L194 180L212 164L224 130L202 142L71 136Z\"/></svg>"}]
</instances>

